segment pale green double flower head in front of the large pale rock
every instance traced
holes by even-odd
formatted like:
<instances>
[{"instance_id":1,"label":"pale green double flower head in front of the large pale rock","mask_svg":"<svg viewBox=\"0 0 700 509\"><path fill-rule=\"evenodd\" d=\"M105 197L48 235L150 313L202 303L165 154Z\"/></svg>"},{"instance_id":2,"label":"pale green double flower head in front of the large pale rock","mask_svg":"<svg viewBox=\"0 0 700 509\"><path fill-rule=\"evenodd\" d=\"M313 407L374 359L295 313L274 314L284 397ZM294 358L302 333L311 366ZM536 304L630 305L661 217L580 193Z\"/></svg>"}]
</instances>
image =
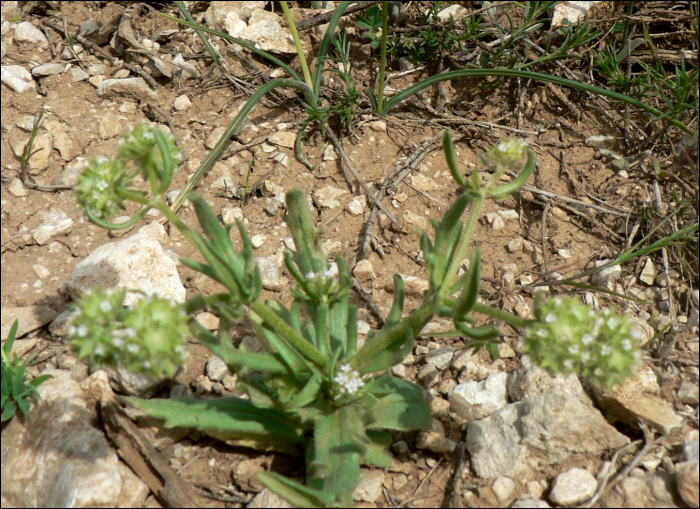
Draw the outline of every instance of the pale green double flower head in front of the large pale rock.
<instances>
[{"instance_id":1,"label":"pale green double flower head in front of the large pale rock","mask_svg":"<svg viewBox=\"0 0 700 509\"><path fill-rule=\"evenodd\" d=\"M153 378L172 377L186 360L187 315L156 295L125 308L125 295L123 289L98 288L78 302L69 335L79 358Z\"/></svg>"}]
</instances>

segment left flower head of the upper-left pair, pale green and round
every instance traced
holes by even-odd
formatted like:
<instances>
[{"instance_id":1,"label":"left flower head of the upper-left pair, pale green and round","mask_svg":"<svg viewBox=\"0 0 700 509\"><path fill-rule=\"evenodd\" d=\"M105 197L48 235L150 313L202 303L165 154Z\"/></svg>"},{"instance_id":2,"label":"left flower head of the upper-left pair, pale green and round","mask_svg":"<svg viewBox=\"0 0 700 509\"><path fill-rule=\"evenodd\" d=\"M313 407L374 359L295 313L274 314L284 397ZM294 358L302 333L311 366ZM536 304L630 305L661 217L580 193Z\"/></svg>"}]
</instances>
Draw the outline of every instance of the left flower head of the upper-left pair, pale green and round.
<instances>
[{"instance_id":1,"label":"left flower head of the upper-left pair, pale green and round","mask_svg":"<svg viewBox=\"0 0 700 509\"><path fill-rule=\"evenodd\" d=\"M98 156L78 176L76 198L84 210L108 221L126 210L124 198L117 190L130 187L132 182L133 176L124 161Z\"/></svg>"}]
</instances>

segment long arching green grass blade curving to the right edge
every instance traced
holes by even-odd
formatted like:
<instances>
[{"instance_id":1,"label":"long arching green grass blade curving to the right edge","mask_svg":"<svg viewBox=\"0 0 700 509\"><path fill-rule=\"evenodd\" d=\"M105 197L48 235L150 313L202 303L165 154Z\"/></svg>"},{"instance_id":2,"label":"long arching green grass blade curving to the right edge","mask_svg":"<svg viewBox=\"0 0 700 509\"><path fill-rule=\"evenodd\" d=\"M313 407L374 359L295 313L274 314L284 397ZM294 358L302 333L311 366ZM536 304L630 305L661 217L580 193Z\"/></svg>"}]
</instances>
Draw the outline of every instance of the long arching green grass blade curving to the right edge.
<instances>
[{"instance_id":1,"label":"long arching green grass blade curving to the right edge","mask_svg":"<svg viewBox=\"0 0 700 509\"><path fill-rule=\"evenodd\" d=\"M379 115L382 117L386 116L386 114L391 110L391 108L399 104L401 101L407 99L408 97L414 94L417 94L421 90L424 90L433 85L437 85L442 81L489 76L510 76L514 78L533 79L536 81L555 83L564 87L578 88L580 90L585 90L586 92L590 92L592 94L603 95L605 97L610 97L611 99L616 99L618 101L630 104L636 108L639 108L640 110L644 110L647 113L652 114L657 118L662 115L662 112L660 110L657 110L653 106L649 106L648 104L645 104L642 101L639 101L633 97L629 97L624 94L614 92L612 90L607 90L601 87L595 87L593 85L588 85L587 83L567 80L566 78L560 78L559 76L552 76L549 74L542 74L539 72L519 71L516 69L466 69L462 71L446 72L438 74L437 76L431 76L430 78L427 78L421 81L420 83L416 83L412 87L408 87L406 90L403 90L402 92L396 94L394 97L392 97L390 101L386 103L384 108L379 111ZM694 134L694 131L690 127L688 127L678 119L665 117L663 120L667 121L668 123L679 129L682 129L688 134Z\"/></svg>"}]
</instances>

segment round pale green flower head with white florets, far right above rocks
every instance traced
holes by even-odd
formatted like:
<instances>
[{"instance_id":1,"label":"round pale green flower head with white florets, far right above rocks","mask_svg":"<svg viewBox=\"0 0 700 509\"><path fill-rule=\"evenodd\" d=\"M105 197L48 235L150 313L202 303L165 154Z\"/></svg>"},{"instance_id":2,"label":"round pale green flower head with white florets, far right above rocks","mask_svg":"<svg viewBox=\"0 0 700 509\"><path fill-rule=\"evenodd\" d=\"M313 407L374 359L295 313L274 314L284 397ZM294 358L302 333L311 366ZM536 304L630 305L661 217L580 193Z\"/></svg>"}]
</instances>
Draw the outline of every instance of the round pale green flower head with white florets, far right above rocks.
<instances>
[{"instance_id":1,"label":"round pale green flower head with white florets, far right above rocks","mask_svg":"<svg viewBox=\"0 0 700 509\"><path fill-rule=\"evenodd\" d=\"M550 373L579 373L608 388L634 375L640 338L626 317L573 297L551 299L535 314L537 323L526 330L521 347Z\"/></svg>"}]
</instances>

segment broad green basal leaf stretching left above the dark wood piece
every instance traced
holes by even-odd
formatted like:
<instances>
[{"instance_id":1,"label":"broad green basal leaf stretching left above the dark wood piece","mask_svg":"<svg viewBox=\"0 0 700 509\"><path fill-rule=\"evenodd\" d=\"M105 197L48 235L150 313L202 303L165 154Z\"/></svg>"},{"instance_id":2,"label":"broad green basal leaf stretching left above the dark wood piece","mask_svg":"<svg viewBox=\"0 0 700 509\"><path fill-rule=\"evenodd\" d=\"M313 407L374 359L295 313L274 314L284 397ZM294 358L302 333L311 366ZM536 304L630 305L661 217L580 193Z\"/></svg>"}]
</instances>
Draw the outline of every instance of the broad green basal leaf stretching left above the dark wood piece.
<instances>
[{"instance_id":1,"label":"broad green basal leaf stretching left above the dark wood piece","mask_svg":"<svg viewBox=\"0 0 700 509\"><path fill-rule=\"evenodd\" d=\"M163 419L166 428L193 427L218 440L255 440L286 451L298 452L307 444L296 421L276 410L257 408L245 399L119 399Z\"/></svg>"}]
</instances>

